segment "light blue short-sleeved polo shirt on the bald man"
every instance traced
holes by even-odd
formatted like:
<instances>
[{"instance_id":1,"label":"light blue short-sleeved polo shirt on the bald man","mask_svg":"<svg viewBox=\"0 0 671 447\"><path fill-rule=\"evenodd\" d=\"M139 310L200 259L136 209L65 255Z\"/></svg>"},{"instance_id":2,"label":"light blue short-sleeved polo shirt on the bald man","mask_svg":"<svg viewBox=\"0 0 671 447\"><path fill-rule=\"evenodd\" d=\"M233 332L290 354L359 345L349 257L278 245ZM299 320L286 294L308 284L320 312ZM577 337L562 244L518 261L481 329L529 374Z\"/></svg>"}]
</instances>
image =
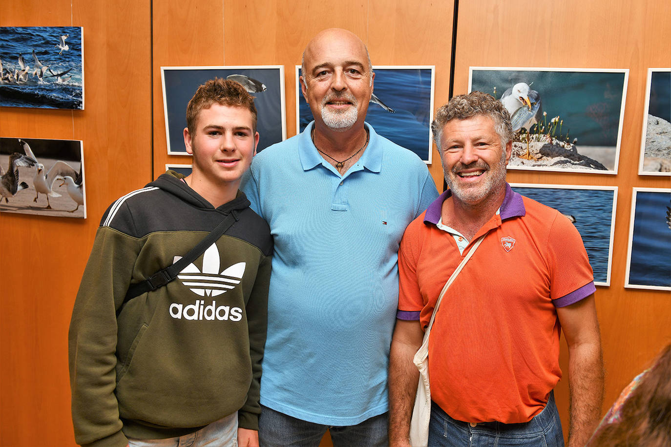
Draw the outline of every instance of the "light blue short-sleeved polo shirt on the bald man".
<instances>
[{"instance_id":1,"label":"light blue short-sleeved polo shirt on the bald man","mask_svg":"<svg viewBox=\"0 0 671 447\"><path fill-rule=\"evenodd\" d=\"M274 238L261 403L350 426L387 411L399 243L438 193L415 153L367 123L343 176L312 128L258 153L241 186Z\"/></svg>"}]
</instances>

